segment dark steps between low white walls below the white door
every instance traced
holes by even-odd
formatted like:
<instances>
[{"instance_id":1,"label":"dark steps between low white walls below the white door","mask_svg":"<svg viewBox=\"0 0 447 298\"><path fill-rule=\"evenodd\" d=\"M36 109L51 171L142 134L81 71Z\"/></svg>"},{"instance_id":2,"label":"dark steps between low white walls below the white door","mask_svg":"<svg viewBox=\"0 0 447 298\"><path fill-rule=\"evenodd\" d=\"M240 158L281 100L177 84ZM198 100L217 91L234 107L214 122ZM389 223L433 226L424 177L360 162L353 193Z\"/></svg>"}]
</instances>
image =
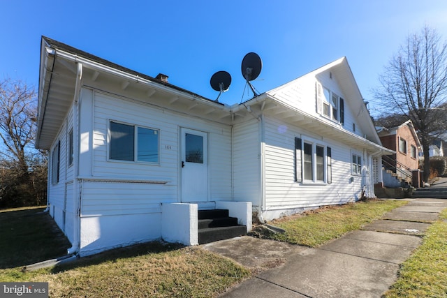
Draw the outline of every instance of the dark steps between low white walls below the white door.
<instances>
[{"instance_id":1,"label":"dark steps between low white walls below the white door","mask_svg":"<svg viewBox=\"0 0 447 298\"><path fill-rule=\"evenodd\" d=\"M227 209L198 211L198 244L230 239L247 234L245 225L238 225Z\"/></svg>"}]
</instances>

